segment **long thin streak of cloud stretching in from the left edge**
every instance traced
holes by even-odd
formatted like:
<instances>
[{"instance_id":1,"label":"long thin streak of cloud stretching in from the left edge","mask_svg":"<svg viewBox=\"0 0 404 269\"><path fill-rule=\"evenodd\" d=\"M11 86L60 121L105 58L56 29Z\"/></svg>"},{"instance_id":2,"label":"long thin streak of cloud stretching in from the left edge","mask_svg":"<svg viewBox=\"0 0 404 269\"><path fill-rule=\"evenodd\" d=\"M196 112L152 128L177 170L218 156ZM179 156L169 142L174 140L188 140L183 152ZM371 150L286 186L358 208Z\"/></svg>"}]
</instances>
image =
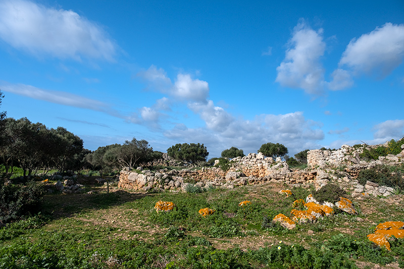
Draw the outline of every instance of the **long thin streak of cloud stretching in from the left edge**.
<instances>
[{"instance_id":1,"label":"long thin streak of cloud stretching in from the left edge","mask_svg":"<svg viewBox=\"0 0 404 269\"><path fill-rule=\"evenodd\" d=\"M104 103L102 101L85 98L80 95L63 91L44 90L31 85L10 84L4 81L0 82L3 84L0 85L0 88L3 91L11 92L22 96L27 96L38 100L44 100L47 102L80 107L81 109L89 109L104 112L111 116L122 118L122 115L120 115L120 113L112 109L109 104Z\"/></svg>"}]
</instances>

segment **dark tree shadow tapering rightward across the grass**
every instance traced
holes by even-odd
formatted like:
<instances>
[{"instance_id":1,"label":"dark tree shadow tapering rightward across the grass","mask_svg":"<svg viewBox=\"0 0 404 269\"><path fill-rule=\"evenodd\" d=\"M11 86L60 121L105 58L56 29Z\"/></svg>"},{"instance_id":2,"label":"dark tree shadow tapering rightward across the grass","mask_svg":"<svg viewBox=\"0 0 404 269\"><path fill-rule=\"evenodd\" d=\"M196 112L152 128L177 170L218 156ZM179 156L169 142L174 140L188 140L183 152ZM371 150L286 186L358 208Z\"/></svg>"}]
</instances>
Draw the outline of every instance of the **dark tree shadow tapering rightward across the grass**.
<instances>
[{"instance_id":1,"label":"dark tree shadow tapering rightward across the grass","mask_svg":"<svg viewBox=\"0 0 404 269\"><path fill-rule=\"evenodd\" d=\"M50 194L45 195L42 212L52 219L69 218L74 214L122 205L154 194L129 193L119 190L110 193Z\"/></svg>"}]
</instances>

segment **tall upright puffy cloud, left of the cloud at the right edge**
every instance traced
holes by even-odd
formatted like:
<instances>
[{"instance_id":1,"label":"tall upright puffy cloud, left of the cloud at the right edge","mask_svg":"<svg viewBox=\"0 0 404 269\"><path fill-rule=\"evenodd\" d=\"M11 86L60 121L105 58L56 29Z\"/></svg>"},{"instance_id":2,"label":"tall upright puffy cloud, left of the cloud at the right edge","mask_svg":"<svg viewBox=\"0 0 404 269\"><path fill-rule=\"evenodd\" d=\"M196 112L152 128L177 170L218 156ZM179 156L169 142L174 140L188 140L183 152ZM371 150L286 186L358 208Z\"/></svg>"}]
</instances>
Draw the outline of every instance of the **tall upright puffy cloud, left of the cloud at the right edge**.
<instances>
[{"instance_id":1,"label":"tall upright puffy cloud, left of the cloud at the right edge","mask_svg":"<svg viewBox=\"0 0 404 269\"><path fill-rule=\"evenodd\" d=\"M313 30L304 21L294 27L285 59L276 68L276 82L311 94L323 91L324 69L320 58L324 55L326 44L322 32L322 29Z\"/></svg>"}]
</instances>

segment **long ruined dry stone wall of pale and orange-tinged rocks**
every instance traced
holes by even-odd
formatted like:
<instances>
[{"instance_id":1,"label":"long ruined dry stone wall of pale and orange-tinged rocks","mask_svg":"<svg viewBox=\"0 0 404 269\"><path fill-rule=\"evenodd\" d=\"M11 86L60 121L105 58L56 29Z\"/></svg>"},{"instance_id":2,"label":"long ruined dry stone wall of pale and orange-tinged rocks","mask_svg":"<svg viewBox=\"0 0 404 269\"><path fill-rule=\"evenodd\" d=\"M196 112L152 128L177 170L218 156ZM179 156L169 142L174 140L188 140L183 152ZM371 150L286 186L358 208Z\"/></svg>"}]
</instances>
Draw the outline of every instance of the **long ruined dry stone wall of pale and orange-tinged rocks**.
<instances>
[{"instance_id":1,"label":"long ruined dry stone wall of pale and orange-tinged rocks","mask_svg":"<svg viewBox=\"0 0 404 269\"><path fill-rule=\"evenodd\" d=\"M380 157L372 162L364 162L360 154L364 148L377 147L360 145L351 147L342 145L337 150L308 151L308 168L303 170L290 169L281 159L274 161L262 153L249 153L244 157L236 157L230 161L230 169L225 173L220 168L202 168L200 170L168 170L158 172L142 171L140 173L124 169L119 178L118 187L133 190L177 190L185 191L189 184L201 188L210 186L234 188L246 184L262 182L282 182L291 186L314 185L316 189L325 186L330 181L337 182L353 195L390 195L391 188L375 186L376 183L359 184L356 178L363 169L372 168L379 164L398 165L404 163L403 150L397 155ZM168 155L162 162L172 162Z\"/></svg>"}]
</instances>

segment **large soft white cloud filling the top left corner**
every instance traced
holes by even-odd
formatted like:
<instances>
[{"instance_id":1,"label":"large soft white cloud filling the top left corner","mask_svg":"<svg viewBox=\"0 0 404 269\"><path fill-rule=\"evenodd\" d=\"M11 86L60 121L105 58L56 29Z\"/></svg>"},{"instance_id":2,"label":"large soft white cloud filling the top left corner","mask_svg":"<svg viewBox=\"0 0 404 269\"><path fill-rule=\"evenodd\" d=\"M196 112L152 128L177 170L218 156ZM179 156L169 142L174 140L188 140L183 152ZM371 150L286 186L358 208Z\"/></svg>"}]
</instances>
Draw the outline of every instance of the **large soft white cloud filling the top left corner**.
<instances>
[{"instance_id":1,"label":"large soft white cloud filling the top left corner","mask_svg":"<svg viewBox=\"0 0 404 269\"><path fill-rule=\"evenodd\" d=\"M114 61L116 45L98 24L25 0L0 3L0 38L35 56Z\"/></svg>"}]
</instances>

